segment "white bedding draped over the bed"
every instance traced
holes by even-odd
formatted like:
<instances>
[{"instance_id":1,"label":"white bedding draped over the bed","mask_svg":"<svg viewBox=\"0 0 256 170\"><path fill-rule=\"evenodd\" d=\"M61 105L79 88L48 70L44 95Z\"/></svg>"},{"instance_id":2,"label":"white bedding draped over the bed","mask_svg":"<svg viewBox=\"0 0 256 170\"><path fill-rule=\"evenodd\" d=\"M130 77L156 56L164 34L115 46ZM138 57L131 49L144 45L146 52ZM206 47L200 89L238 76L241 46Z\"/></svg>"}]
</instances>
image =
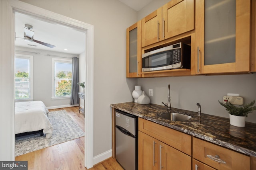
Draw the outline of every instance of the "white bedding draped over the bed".
<instances>
[{"instance_id":1,"label":"white bedding draped over the bed","mask_svg":"<svg viewBox=\"0 0 256 170\"><path fill-rule=\"evenodd\" d=\"M15 134L43 129L46 138L52 136L53 127L47 114L48 109L42 101L15 103Z\"/></svg>"}]
</instances>

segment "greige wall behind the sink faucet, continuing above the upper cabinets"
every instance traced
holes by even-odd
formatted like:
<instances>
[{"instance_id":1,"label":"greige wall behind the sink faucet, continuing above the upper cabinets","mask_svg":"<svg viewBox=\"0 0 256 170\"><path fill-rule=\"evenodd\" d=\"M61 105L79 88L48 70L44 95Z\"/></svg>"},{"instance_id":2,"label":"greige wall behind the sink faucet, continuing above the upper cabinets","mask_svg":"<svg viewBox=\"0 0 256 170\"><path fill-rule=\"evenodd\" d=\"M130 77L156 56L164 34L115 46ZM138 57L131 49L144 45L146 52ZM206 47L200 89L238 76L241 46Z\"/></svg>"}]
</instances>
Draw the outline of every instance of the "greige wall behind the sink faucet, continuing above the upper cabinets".
<instances>
[{"instance_id":1,"label":"greige wall behind the sink faucet, continuing above the upper cabinets","mask_svg":"<svg viewBox=\"0 0 256 170\"><path fill-rule=\"evenodd\" d=\"M169 0L153 0L138 12L138 20L169 2ZM256 74L226 76L189 76L166 78L138 78L138 85L148 94L153 89L154 104L167 103L168 84L171 89L172 107L197 111L196 103L202 106L202 113L228 117L228 113L218 100L222 101L227 93L238 93L247 104L256 100ZM249 113L246 121L256 123L256 111Z\"/></svg>"}]
</instances>

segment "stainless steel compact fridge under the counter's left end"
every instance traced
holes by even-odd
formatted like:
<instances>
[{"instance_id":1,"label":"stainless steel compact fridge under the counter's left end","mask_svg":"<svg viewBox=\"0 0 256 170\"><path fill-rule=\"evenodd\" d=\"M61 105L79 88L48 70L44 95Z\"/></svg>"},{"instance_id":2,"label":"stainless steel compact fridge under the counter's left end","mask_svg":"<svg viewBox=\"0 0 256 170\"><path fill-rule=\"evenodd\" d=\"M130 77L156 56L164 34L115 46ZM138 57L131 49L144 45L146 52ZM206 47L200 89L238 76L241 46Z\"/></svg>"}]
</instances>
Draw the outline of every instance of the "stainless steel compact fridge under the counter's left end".
<instances>
[{"instance_id":1,"label":"stainless steel compact fridge under the counter's left end","mask_svg":"<svg viewBox=\"0 0 256 170\"><path fill-rule=\"evenodd\" d=\"M125 170L138 170L138 117L116 110L116 160Z\"/></svg>"}]
</instances>

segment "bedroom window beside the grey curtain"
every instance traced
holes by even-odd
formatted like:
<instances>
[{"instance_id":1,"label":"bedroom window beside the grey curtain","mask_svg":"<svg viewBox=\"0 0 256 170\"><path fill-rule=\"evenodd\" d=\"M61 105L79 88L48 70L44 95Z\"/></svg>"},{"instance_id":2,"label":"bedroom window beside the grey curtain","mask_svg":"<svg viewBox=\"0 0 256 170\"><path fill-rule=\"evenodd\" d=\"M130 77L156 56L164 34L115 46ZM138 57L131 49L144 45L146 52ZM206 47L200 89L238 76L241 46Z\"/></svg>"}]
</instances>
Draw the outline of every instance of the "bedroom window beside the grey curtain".
<instances>
[{"instance_id":1,"label":"bedroom window beside the grey curtain","mask_svg":"<svg viewBox=\"0 0 256 170\"><path fill-rule=\"evenodd\" d=\"M72 60L52 59L53 98L71 96Z\"/></svg>"}]
</instances>

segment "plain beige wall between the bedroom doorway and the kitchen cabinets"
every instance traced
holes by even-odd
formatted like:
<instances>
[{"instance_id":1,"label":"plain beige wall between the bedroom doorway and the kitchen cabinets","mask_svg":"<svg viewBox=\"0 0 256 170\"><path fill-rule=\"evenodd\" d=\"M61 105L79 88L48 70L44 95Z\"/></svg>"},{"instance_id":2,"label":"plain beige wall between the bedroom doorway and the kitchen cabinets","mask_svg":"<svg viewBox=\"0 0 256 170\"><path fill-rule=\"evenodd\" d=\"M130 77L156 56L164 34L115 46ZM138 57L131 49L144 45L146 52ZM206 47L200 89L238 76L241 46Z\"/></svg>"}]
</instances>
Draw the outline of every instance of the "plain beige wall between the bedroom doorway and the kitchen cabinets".
<instances>
[{"instance_id":1,"label":"plain beige wall between the bedroom doorway and the kitchen cabinets","mask_svg":"<svg viewBox=\"0 0 256 170\"><path fill-rule=\"evenodd\" d=\"M112 149L110 104L132 101L126 79L126 28L137 12L118 0L22 0L94 25L94 156Z\"/></svg>"}]
</instances>

